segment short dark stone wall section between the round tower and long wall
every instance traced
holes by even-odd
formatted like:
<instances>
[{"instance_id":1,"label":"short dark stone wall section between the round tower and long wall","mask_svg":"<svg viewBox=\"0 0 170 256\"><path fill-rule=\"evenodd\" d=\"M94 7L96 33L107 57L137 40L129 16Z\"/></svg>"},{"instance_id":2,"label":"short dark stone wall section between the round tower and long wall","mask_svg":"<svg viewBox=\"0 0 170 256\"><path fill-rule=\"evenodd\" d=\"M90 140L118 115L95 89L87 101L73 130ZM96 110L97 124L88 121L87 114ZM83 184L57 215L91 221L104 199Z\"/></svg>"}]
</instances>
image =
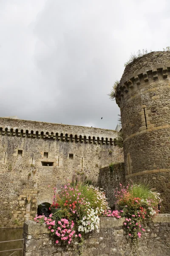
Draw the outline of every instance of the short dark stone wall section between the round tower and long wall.
<instances>
[{"instance_id":1,"label":"short dark stone wall section between the round tower and long wall","mask_svg":"<svg viewBox=\"0 0 170 256\"><path fill-rule=\"evenodd\" d=\"M114 191L119 183L125 184L125 164L115 163L112 167L106 166L100 169L99 186L105 189L106 197L111 209L115 209Z\"/></svg>"}]
</instances>

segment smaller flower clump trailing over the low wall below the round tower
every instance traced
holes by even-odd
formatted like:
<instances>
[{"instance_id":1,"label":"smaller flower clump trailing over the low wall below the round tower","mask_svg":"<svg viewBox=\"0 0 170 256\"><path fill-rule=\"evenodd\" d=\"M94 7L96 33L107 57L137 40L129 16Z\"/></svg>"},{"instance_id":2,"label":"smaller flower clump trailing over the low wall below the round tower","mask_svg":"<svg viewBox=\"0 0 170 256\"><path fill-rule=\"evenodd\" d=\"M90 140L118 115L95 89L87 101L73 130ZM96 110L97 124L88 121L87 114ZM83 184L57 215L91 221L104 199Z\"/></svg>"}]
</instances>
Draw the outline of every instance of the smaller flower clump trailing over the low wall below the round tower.
<instances>
[{"instance_id":1,"label":"smaller flower clump trailing over the low wall below the round tower","mask_svg":"<svg viewBox=\"0 0 170 256\"><path fill-rule=\"evenodd\" d=\"M120 189L115 190L116 204L122 208L120 212L125 217L125 229L129 237L140 238L145 231L143 221L152 219L159 212L160 194L150 191L146 185L119 185Z\"/></svg>"}]
</instances>

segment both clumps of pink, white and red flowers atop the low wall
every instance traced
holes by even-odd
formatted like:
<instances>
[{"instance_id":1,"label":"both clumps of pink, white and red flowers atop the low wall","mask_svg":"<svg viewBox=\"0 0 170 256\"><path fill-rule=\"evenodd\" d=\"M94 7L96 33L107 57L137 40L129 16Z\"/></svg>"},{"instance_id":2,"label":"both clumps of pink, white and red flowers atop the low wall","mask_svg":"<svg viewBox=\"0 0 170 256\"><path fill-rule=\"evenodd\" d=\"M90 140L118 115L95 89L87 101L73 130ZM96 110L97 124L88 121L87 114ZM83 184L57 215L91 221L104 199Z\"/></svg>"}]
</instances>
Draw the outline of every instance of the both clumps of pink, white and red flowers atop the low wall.
<instances>
[{"instance_id":1,"label":"both clumps of pink, white and red flowers atop the low wall","mask_svg":"<svg viewBox=\"0 0 170 256\"><path fill-rule=\"evenodd\" d=\"M54 188L56 194L56 189ZM85 185L82 182L68 183L54 195L53 204L61 210L51 214L36 216L35 221L48 225L48 229L56 238L56 244L82 240L85 233L99 228L99 217L125 217L124 227L130 238L135 241L142 236L145 219L152 219L158 212L161 201L159 193L151 192L147 186L122 186L116 189L115 197L120 211L111 211L108 207L105 192L98 187Z\"/></svg>"}]
</instances>

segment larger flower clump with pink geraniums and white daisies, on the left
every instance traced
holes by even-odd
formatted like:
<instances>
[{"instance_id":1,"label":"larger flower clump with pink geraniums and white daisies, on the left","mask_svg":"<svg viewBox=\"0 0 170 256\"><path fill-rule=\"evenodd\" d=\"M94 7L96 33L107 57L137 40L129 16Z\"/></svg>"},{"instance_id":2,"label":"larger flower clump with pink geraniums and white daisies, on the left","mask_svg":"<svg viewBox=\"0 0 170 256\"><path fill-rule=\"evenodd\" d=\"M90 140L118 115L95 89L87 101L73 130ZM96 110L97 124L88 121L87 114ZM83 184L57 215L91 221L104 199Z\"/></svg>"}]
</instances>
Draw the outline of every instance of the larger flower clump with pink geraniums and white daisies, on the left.
<instances>
[{"instance_id":1,"label":"larger flower clump with pink geraniums and white daisies, on the left","mask_svg":"<svg viewBox=\"0 0 170 256\"><path fill-rule=\"evenodd\" d=\"M121 218L118 211L110 210L105 192L98 187L72 182L62 186L55 194L52 206L59 205L61 210L49 215L49 218L40 215L34 220L48 226L56 244L71 244L74 239L82 239L82 234L98 229L99 216Z\"/></svg>"}]
</instances>

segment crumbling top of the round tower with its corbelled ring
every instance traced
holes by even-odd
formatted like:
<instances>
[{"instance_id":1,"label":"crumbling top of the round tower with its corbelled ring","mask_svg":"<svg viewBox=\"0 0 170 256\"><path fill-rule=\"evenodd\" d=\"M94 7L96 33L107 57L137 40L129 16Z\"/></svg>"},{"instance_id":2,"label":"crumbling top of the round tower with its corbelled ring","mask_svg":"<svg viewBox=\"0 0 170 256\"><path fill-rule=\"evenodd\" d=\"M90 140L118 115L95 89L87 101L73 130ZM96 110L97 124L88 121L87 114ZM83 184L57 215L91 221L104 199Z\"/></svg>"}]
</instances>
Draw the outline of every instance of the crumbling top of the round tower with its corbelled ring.
<instances>
[{"instance_id":1,"label":"crumbling top of the round tower with its corbelled ring","mask_svg":"<svg viewBox=\"0 0 170 256\"><path fill-rule=\"evenodd\" d=\"M125 67L116 88L115 99L121 106L122 98L155 80L170 78L170 52L150 52Z\"/></svg>"}]
</instances>

